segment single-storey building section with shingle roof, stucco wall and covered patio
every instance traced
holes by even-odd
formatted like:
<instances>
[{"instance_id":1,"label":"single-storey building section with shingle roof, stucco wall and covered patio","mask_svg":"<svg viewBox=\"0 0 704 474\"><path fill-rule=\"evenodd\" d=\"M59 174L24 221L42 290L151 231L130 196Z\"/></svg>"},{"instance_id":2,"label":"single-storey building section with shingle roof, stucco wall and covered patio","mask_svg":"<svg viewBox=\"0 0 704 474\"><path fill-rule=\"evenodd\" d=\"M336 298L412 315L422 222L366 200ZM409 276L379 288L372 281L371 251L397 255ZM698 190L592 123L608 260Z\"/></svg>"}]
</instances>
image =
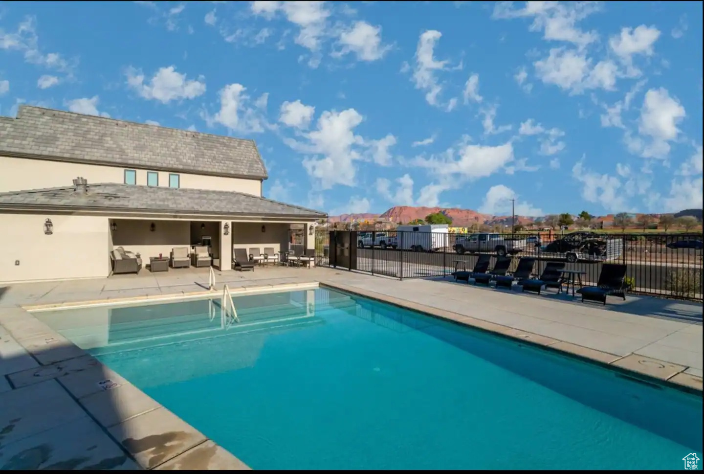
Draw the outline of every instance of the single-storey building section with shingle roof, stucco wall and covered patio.
<instances>
[{"instance_id":1,"label":"single-storey building section with shingle roof, stucco wall and covered patio","mask_svg":"<svg viewBox=\"0 0 704 474\"><path fill-rule=\"evenodd\" d=\"M233 249L315 249L315 222L325 217L239 192L114 184L0 194L0 213L8 223L0 245L11 254L0 282L230 271Z\"/></svg>"}]
</instances>

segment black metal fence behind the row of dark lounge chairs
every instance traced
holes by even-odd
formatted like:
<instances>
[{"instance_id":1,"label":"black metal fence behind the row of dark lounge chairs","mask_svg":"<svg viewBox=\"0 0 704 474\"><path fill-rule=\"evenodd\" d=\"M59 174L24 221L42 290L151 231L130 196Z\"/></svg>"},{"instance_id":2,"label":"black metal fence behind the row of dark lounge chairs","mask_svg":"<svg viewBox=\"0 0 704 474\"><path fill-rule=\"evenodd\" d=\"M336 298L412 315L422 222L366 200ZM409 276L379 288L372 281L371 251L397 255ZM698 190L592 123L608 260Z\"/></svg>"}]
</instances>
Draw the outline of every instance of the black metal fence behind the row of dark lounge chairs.
<instances>
[{"instance_id":1,"label":"black metal fence behind the row of dark lounge chairs","mask_svg":"<svg viewBox=\"0 0 704 474\"><path fill-rule=\"evenodd\" d=\"M480 254L536 258L581 272L596 285L603 263L627 265L631 292L702 301L702 235L572 232L453 234L444 232L318 231L315 263L398 279L450 277L472 270ZM514 258L511 269L519 258ZM493 261L492 261L493 264Z\"/></svg>"}]
</instances>

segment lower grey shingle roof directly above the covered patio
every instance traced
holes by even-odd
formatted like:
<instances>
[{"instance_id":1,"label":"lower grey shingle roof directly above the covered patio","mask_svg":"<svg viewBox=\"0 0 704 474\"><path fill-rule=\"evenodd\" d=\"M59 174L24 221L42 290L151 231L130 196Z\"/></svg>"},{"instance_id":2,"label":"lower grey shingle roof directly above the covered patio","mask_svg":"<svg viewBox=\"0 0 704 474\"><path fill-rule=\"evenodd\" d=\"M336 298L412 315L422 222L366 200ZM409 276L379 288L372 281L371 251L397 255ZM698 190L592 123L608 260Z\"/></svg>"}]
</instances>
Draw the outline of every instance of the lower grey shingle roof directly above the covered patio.
<instances>
[{"instance_id":1,"label":"lower grey shingle roof directly above the covered patio","mask_svg":"<svg viewBox=\"0 0 704 474\"><path fill-rule=\"evenodd\" d=\"M75 192L74 187L0 193L0 207L4 206L57 210L82 208L105 211L166 211L219 216L291 216L314 219L325 217L325 213L320 211L239 192L116 184L89 185L85 194Z\"/></svg>"}]
</instances>

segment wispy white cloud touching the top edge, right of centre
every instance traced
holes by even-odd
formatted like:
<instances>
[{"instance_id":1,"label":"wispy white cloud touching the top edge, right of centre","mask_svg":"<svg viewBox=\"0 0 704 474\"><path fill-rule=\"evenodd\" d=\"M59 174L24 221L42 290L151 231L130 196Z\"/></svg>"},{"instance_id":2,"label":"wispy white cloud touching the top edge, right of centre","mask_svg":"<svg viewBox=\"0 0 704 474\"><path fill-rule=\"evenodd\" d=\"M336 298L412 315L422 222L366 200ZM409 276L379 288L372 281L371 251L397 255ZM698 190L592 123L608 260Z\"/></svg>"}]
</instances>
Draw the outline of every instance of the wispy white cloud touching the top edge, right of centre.
<instances>
[{"instance_id":1,"label":"wispy white cloud touching the top edge, right of centre","mask_svg":"<svg viewBox=\"0 0 704 474\"><path fill-rule=\"evenodd\" d=\"M543 39L587 46L598 39L595 31L585 32L577 23L595 11L598 2L527 1L524 8L513 8L512 1L499 1L494 6L494 18L533 18L531 31L542 31Z\"/></svg>"}]
</instances>

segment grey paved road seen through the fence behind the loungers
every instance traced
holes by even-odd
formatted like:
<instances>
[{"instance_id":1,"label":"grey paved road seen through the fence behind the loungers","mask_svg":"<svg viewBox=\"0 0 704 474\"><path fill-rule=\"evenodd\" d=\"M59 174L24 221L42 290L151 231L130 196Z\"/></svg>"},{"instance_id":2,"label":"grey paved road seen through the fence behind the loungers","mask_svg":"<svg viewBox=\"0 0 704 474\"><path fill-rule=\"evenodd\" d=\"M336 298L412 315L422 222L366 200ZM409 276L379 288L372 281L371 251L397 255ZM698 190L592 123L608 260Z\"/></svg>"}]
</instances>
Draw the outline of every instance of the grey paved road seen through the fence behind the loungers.
<instances>
[{"instance_id":1,"label":"grey paved road seen through the fence behind the loungers","mask_svg":"<svg viewBox=\"0 0 704 474\"><path fill-rule=\"evenodd\" d=\"M467 270L471 270L474 267L474 263L477 261L476 255L467 254L430 254L425 252L401 252L396 250L374 249L372 251L372 249L357 249L357 256L359 259L363 259L365 261L365 266L370 267L370 261L373 258L375 272L396 276L398 276L398 273L401 271L402 253L404 277L424 275L428 273L428 270L432 270L433 268L436 268L439 272L441 272L444 266L447 268L454 268L455 263L453 260L461 260L465 262ZM546 260L536 262L536 273L541 273L543 271L545 263ZM667 282L669 273L673 266L665 266L665 261L659 264L648 264L642 262L631 262L628 258L625 263L628 264L627 276L634 278L636 287L653 292L665 292L668 286ZM677 264L674 264L674 268L677 268ZM365 270L367 269L368 268L365 268ZM566 263L565 269L584 271L586 274L582 276L582 279L585 282L596 282L598 280L599 273L601 272L601 263ZM682 268L682 271L684 272L684 268ZM699 271L699 281L702 281L701 267L696 269L693 268L690 271Z\"/></svg>"}]
</instances>

